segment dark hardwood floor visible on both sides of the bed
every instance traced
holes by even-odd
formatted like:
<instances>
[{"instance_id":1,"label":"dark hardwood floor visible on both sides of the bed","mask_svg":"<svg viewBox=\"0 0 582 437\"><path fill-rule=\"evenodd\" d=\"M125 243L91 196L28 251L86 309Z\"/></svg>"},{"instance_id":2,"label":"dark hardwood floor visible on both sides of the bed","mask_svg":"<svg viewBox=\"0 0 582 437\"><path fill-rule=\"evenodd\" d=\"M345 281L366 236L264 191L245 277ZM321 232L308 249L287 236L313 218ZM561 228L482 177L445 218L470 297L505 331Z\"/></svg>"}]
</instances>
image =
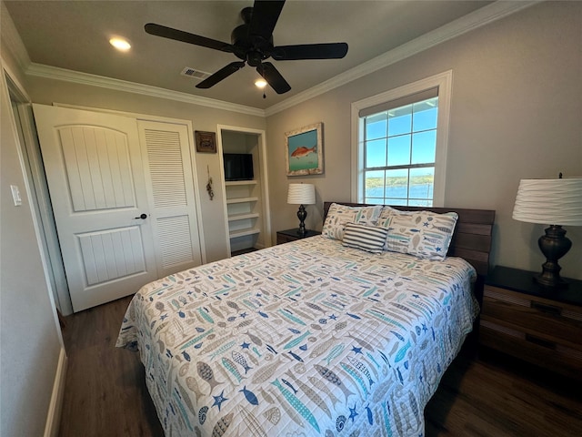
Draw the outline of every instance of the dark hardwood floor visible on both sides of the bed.
<instances>
[{"instance_id":1,"label":"dark hardwood floor visible on both sides of the bed","mask_svg":"<svg viewBox=\"0 0 582 437\"><path fill-rule=\"evenodd\" d=\"M62 437L163 436L139 355L115 348L131 298L65 318ZM464 351L425 410L426 436L580 436L580 384Z\"/></svg>"}]
</instances>

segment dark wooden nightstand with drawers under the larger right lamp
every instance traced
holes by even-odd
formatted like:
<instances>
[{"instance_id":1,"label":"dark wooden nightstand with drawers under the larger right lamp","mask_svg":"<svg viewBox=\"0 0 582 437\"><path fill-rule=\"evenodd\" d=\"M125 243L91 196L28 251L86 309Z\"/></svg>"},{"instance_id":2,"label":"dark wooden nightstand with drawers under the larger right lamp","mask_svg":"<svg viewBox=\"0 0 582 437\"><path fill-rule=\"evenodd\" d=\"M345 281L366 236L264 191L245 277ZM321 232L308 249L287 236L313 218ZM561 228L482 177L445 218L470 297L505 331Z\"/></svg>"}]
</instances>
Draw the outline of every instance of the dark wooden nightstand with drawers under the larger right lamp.
<instances>
[{"instance_id":1,"label":"dark wooden nightstand with drawers under the larger right lamp","mask_svg":"<svg viewBox=\"0 0 582 437\"><path fill-rule=\"evenodd\" d=\"M535 274L497 266L487 276L479 342L582 380L582 280L546 290Z\"/></svg>"}]
</instances>

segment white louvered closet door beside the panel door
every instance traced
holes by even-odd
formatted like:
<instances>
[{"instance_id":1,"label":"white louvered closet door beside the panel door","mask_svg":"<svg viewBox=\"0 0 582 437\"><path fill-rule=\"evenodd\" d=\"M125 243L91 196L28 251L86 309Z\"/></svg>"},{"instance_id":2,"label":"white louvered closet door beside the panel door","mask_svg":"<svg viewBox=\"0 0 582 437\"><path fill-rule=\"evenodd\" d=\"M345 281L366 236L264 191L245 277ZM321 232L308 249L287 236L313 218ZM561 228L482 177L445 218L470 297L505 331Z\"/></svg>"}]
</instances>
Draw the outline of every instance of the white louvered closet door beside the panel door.
<instances>
[{"instance_id":1,"label":"white louvered closet door beside the panel door","mask_svg":"<svg viewBox=\"0 0 582 437\"><path fill-rule=\"evenodd\" d=\"M186 125L138 120L160 277L203 263Z\"/></svg>"}]
</instances>

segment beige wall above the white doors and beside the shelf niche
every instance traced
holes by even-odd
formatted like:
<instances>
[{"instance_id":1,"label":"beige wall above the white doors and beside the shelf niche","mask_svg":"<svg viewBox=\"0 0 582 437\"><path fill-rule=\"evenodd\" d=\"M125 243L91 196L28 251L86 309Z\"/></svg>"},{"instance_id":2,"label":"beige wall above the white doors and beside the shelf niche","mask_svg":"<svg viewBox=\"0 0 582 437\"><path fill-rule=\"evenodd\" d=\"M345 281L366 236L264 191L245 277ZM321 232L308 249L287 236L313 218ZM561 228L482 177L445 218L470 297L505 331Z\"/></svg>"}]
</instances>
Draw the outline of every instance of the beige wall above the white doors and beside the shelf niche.
<instances>
[{"instance_id":1,"label":"beige wall above the white doors and beside the shelf niche","mask_svg":"<svg viewBox=\"0 0 582 437\"><path fill-rule=\"evenodd\" d=\"M105 108L128 113L190 120L194 130L216 132L216 125L265 129L264 117L249 116L211 107L200 107L158 97L125 93L112 89L79 85L60 80L28 77L28 92L32 101L51 105L61 103L79 107ZM193 149L196 150L196 147ZM196 153L197 188L201 199L202 225L206 243L206 260L224 259L226 223L224 199L219 188L220 160L218 154ZM208 169L215 182L215 198L206 193Z\"/></svg>"}]
</instances>

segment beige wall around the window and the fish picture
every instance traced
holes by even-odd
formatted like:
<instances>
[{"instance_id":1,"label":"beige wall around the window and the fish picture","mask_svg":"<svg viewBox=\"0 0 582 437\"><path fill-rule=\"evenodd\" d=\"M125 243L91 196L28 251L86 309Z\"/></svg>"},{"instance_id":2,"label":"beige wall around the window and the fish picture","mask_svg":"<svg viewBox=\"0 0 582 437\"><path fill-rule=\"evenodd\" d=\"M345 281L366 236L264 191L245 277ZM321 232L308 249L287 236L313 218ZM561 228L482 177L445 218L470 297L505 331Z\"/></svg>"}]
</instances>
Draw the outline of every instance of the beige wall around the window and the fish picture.
<instances>
[{"instance_id":1,"label":"beige wall around the window and the fish picture","mask_svg":"<svg viewBox=\"0 0 582 437\"><path fill-rule=\"evenodd\" d=\"M289 182L316 184L306 225L321 229L322 202L350 199L350 104L453 71L445 205L497 211L493 264L539 270L543 225L511 219L520 178L582 176L582 2L534 5L320 97L267 117L272 228L297 226ZM324 123L325 174L287 178L285 132ZM562 274L582 279L582 228Z\"/></svg>"}]
</instances>

